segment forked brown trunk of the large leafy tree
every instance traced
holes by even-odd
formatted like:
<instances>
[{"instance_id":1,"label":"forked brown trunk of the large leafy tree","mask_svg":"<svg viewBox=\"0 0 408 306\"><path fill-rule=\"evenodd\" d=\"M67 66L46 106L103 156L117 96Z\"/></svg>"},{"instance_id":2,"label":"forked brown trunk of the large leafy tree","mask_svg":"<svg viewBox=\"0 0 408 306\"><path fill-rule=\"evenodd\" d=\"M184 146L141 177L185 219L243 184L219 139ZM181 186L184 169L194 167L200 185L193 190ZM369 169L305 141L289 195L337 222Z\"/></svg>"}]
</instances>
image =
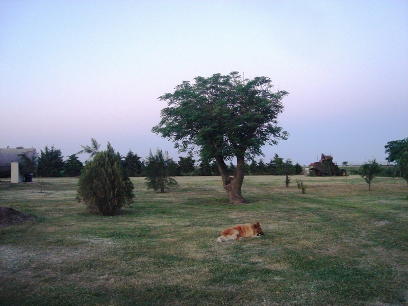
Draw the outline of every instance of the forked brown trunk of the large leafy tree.
<instances>
[{"instance_id":1,"label":"forked brown trunk of the large leafy tree","mask_svg":"<svg viewBox=\"0 0 408 306\"><path fill-rule=\"evenodd\" d=\"M242 183L244 182L244 164L245 159L237 157L237 170L234 177L227 174L227 167L223 158L215 158L220 171L223 187L226 191L231 204L246 203L246 200L241 194Z\"/></svg>"}]
</instances>

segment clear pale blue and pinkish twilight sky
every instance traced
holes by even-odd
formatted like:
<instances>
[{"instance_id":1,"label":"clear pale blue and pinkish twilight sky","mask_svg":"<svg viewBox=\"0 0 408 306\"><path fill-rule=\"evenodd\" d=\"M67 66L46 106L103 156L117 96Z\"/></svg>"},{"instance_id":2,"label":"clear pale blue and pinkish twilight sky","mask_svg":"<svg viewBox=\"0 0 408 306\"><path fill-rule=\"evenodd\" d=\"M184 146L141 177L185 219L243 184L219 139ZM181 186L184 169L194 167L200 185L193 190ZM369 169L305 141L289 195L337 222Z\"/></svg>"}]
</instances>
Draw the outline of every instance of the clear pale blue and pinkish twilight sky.
<instances>
[{"instance_id":1,"label":"clear pale blue and pinkish twilight sky","mask_svg":"<svg viewBox=\"0 0 408 306\"><path fill-rule=\"evenodd\" d=\"M385 163L408 137L408 1L0 0L0 147L178 160L158 97L231 71L289 92L264 161Z\"/></svg>"}]
</instances>

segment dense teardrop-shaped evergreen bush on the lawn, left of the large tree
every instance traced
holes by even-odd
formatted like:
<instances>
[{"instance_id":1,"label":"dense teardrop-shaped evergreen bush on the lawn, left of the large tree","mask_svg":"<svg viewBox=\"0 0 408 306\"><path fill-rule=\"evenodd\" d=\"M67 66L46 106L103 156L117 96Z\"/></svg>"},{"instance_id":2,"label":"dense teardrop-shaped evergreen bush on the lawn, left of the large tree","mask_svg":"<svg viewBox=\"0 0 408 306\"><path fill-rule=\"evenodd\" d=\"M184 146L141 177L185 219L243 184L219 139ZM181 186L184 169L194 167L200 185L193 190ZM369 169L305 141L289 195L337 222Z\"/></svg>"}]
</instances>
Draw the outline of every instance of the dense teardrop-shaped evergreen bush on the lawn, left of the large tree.
<instances>
[{"instance_id":1,"label":"dense teardrop-shaped evergreen bush on the lawn, left of the large tree","mask_svg":"<svg viewBox=\"0 0 408 306\"><path fill-rule=\"evenodd\" d=\"M108 142L106 151L94 155L78 182L78 199L97 214L112 216L133 201L133 183Z\"/></svg>"}]
</instances>

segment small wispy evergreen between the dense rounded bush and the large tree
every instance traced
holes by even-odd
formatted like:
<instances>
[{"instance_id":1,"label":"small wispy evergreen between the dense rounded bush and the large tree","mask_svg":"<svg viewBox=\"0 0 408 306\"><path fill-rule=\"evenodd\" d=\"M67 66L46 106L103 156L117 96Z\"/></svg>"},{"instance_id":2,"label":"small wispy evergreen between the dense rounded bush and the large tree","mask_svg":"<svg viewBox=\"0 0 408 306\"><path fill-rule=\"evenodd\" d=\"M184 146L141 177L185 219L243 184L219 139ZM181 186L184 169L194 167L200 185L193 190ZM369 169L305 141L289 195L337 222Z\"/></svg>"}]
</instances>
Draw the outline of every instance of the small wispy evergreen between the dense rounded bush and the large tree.
<instances>
[{"instance_id":1,"label":"small wispy evergreen between the dense rounded bush and the large tree","mask_svg":"<svg viewBox=\"0 0 408 306\"><path fill-rule=\"evenodd\" d=\"M150 150L144 167L147 188L164 193L165 189L169 190L172 186L178 186L169 175L173 163L167 151L163 154L163 150L157 149L156 154L153 155Z\"/></svg>"}]
</instances>

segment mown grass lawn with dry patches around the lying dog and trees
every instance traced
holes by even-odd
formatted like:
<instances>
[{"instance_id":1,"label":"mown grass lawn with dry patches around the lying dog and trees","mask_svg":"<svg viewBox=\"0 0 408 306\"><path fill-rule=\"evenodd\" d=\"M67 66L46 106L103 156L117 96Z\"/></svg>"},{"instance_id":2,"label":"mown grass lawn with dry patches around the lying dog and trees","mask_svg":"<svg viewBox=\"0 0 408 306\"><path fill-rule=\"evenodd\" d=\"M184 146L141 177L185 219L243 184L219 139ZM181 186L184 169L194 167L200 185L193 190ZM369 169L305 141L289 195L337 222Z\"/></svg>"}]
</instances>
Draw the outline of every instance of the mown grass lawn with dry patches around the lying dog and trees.
<instances>
[{"instance_id":1,"label":"mown grass lawn with dry patches around the lying dog and trees","mask_svg":"<svg viewBox=\"0 0 408 306\"><path fill-rule=\"evenodd\" d=\"M308 186L302 194L294 182ZM408 186L378 177L177 177L114 217L75 201L77 179L0 183L0 206L36 215L0 229L1 305L407 305ZM216 243L260 221L265 236Z\"/></svg>"}]
</instances>

